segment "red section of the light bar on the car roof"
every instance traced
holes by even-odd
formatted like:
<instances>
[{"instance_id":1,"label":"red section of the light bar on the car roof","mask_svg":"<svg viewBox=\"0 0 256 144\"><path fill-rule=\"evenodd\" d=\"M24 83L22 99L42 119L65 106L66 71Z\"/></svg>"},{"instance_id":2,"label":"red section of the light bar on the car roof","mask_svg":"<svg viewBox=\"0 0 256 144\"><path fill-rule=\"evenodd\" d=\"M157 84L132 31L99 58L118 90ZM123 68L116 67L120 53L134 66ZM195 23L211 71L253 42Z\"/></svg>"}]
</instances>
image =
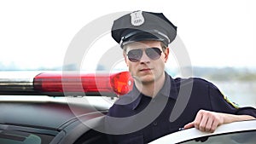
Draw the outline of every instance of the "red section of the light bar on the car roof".
<instances>
[{"instance_id":1,"label":"red section of the light bar on the car roof","mask_svg":"<svg viewBox=\"0 0 256 144\"><path fill-rule=\"evenodd\" d=\"M132 89L129 72L41 73L33 80L34 89L48 95L124 95Z\"/></svg>"}]
</instances>

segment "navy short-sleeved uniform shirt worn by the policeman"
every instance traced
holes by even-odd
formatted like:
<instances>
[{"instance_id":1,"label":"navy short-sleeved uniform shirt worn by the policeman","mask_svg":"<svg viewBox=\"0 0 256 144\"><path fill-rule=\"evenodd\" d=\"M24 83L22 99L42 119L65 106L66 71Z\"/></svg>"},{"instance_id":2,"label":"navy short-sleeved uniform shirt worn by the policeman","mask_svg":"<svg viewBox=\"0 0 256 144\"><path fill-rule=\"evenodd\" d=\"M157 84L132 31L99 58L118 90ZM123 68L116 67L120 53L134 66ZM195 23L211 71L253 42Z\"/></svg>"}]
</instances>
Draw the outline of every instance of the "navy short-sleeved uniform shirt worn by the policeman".
<instances>
[{"instance_id":1,"label":"navy short-sleeved uniform shirt worn by the policeman","mask_svg":"<svg viewBox=\"0 0 256 144\"><path fill-rule=\"evenodd\" d=\"M135 86L119 97L105 118L105 128L111 134L108 140L113 144L154 141L194 121L201 109L256 118L256 109L236 107L204 79L173 79L166 74L165 84L154 98L141 94Z\"/></svg>"}]
</instances>

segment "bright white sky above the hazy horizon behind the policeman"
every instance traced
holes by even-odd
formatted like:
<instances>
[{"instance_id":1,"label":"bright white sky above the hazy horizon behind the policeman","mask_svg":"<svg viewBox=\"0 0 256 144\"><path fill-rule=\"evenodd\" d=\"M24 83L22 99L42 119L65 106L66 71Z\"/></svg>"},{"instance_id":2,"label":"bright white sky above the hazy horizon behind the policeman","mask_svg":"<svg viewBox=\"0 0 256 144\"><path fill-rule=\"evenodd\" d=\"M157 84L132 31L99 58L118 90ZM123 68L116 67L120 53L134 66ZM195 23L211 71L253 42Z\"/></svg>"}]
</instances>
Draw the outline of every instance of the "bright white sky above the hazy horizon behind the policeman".
<instances>
[{"instance_id":1,"label":"bright white sky above the hazy horizon behind the policeman","mask_svg":"<svg viewBox=\"0 0 256 144\"><path fill-rule=\"evenodd\" d=\"M256 67L255 6L253 0L0 1L0 62L21 68L62 66L84 27L108 14L144 10L163 13L177 26L192 66ZM84 55L85 67L95 68L94 62L116 45L110 32L103 33ZM168 65L179 65L177 55L171 55Z\"/></svg>"}]
</instances>

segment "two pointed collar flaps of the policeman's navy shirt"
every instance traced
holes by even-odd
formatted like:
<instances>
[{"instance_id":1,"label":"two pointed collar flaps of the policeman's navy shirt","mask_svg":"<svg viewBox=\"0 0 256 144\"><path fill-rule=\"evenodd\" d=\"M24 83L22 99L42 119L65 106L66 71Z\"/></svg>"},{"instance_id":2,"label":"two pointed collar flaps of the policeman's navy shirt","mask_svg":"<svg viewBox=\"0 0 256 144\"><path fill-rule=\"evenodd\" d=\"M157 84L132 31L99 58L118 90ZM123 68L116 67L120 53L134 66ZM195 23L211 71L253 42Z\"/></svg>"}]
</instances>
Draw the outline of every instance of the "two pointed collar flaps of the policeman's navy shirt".
<instances>
[{"instance_id":1,"label":"two pointed collar flaps of the policeman's navy shirt","mask_svg":"<svg viewBox=\"0 0 256 144\"><path fill-rule=\"evenodd\" d=\"M163 85L162 89L160 89L160 92L157 94L157 96L163 95L177 100L177 85L170 75L168 75L166 72L165 74L165 84ZM131 95L131 99L133 100L131 103L131 108L134 110L142 100L143 94L137 89L135 84L133 84L133 89L128 95Z\"/></svg>"}]
</instances>

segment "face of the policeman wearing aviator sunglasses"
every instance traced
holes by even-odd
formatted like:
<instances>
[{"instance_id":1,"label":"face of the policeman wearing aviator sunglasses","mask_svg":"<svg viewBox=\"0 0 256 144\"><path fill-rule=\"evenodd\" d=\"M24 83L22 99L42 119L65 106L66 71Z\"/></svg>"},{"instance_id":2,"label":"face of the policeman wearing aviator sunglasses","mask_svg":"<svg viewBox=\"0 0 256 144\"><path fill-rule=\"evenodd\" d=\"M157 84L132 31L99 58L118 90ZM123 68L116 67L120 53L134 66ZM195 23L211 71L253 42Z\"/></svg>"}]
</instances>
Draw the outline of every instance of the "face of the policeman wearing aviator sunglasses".
<instances>
[{"instance_id":1,"label":"face of the policeman wearing aviator sunglasses","mask_svg":"<svg viewBox=\"0 0 256 144\"><path fill-rule=\"evenodd\" d=\"M149 84L149 83L154 83L161 77L164 77L165 63L166 63L166 60L168 59L169 49L166 48L166 50L163 51L163 49L161 48L161 42L159 41L134 42L134 43L128 43L127 45L125 45L125 48L126 48L126 51L124 53L125 62L126 62L126 65L129 67L131 76L135 78L136 81L139 81L140 83L143 83L143 84ZM154 49L151 49L151 48L154 48ZM141 50L135 51L134 49L141 49ZM160 52L160 54L157 52ZM141 54L142 56L140 57ZM160 55L159 58L156 57L158 54ZM133 58L136 58L136 59L129 60L128 55L134 56ZM131 56L130 58L132 58Z\"/></svg>"}]
</instances>

